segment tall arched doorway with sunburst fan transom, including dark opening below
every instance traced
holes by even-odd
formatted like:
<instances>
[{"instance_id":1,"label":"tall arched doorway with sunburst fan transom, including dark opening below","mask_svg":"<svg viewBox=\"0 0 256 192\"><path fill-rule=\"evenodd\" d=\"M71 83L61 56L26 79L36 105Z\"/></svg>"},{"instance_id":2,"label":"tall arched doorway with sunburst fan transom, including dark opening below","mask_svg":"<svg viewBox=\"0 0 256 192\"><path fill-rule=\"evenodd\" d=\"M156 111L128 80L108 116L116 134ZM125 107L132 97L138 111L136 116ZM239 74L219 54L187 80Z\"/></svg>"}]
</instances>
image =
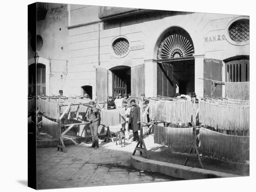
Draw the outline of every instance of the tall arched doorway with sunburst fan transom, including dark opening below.
<instances>
[{"instance_id":1,"label":"tall arched doorway with sunburst fan transom, including dark opening below","mask_svg":"<svg viewBox=\"0 0 256 192\"><path fill-rule=\"evenodd\" d=\"M192 39L181 27L171 27L157 49L157 95L173 97L195 92L195 53Z\"/></svg>"}]
</instances>

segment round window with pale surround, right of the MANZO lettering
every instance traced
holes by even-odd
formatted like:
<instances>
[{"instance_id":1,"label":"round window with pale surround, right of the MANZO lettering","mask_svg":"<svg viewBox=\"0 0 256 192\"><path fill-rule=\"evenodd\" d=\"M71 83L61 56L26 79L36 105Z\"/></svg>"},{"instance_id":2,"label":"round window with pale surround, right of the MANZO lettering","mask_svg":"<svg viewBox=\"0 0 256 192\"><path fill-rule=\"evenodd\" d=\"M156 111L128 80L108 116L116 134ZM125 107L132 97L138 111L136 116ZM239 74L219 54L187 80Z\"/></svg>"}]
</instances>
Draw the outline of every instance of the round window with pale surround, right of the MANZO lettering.
<instances>
[{"instance_id":1,"label":"round window with pale surround, right of the MANZO lettering","mask_svg":"<svg viewBox=\"0 0 256 192\"><path fill-rule=\"evenodd\" d=\"M250 29L249 19L246 17L237 18L232 20L228 26L228 38L227 40L234 45L245 45L249 43Z\"/></svg>"}]
</instances>

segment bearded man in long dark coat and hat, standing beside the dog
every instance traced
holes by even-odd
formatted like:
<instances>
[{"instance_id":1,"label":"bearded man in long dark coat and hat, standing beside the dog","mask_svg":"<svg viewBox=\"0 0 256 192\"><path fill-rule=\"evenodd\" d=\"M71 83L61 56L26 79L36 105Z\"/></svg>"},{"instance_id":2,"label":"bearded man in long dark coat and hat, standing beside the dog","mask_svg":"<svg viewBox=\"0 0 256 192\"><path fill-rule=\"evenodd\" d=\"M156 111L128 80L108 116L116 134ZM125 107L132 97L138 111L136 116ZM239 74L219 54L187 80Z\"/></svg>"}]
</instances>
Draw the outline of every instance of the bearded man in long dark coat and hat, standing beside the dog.
<instances>
[{"instance_id":1,"label":"bearded man in long dark coat and hat, standing beside the dog","mask_svg":"<svg viewBox=\"0 0 256 192\"><path fill-rule=\"evenodd\" d=\"M138 130L140 129L141 109L135 104L135 99L131 99L131 105L128 127L133 130L133 140L137 142L139 141Z\"/></svg>"}]
</instances>

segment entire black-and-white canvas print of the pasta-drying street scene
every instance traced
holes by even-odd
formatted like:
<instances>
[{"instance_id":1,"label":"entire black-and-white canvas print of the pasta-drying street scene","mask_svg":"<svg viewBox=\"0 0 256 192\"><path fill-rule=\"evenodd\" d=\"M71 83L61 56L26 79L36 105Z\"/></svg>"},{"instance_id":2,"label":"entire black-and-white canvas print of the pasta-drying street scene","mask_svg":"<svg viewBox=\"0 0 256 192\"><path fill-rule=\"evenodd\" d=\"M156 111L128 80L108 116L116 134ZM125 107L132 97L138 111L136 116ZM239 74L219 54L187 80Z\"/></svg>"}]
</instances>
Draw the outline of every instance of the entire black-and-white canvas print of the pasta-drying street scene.
<instances>
[{"instance_id":1,"label":"entire black-and-white canvas print of the pasta-drying street scene","mask_svg":"<svg viewBox=\"0 0 256 192\"><path fill-rule=\"evenodd\" d=\"M250 176L249 14L35 2L27 40L29 187Z\"/></svg>"}]
</instances>

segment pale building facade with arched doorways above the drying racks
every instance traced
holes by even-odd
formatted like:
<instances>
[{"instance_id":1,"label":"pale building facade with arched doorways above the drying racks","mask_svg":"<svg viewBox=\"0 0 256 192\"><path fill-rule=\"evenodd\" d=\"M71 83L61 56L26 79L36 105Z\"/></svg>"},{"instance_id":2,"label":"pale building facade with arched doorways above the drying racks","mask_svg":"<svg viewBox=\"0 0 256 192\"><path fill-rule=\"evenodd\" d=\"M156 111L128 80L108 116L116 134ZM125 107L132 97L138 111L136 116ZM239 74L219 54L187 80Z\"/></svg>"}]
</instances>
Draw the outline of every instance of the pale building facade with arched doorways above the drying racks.
<instances>
[{"instance_id":1,"label":"pale building facade with arched doorways above the drying racks","mask_svg":"<svg viewBox=\"0 0 256 192\"><path fill-rule=\"evenodd\" d=\"M64 95L88 93L103 101L117 93L203 97L212 94L203 79L249 81L249 16L64 7L61 18L37 24L46 42L38 63L46 66L47 95L63 89ZM48 10L46 18L54 13ZM223 96L224 86L214 94Z\"/></svg>"}]
</instances>

